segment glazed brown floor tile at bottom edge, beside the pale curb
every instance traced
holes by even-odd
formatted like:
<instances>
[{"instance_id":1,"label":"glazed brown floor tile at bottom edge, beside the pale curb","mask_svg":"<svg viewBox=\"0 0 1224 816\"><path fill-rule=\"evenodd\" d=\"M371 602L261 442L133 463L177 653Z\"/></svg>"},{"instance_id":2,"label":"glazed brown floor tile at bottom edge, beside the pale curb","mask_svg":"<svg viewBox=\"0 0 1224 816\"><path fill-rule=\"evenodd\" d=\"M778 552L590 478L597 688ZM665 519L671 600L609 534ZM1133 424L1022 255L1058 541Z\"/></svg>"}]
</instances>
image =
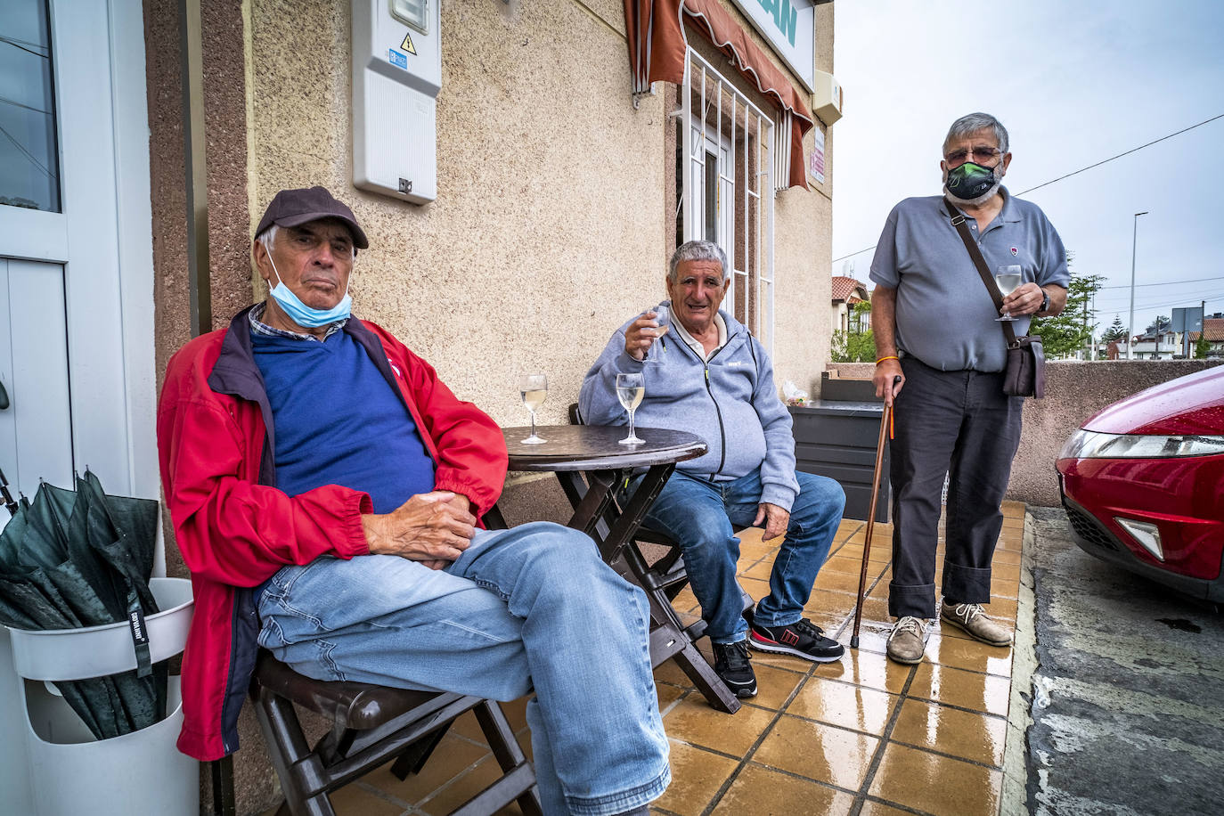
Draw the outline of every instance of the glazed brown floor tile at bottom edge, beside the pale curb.
<instances>
[{"instance_id":1,"label":"glazed brown floor tile at bottom edge, beside the pale curb","mask_svg":"<svg viewBox=\"0 0 1224 816\"><path fill-rule=\"evenodd\" d=\"M995 816L1002 773L889 743L869 794L933 816Z\"/></svg>"}]
</instances>

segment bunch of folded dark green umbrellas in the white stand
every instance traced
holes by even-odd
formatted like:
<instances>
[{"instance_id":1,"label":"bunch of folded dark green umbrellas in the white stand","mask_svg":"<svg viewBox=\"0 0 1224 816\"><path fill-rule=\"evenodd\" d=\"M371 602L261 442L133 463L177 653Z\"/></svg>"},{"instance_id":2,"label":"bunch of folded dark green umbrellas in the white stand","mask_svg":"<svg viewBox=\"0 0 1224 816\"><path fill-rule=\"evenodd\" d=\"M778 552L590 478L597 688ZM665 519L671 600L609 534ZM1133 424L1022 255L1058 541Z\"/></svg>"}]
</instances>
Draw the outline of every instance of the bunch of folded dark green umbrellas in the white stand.
<instances>
[{"instance_id":1,"label":"bunch of folded dark green umbrellas in the white stand","mask_svg":"<svg viewBox=\"0 0 1224 816\"><path fill-rule=\"evenodd\" d=\"M158 612L148 587L157 519L157 502L106 495L89 471L75 491L43 482L0 531L0 623L71 629ZM98 739L165 717L166 666L151 666L147 640L133 636L133 648L132 672L56 684Z\"/></svg>"}]
</instances>

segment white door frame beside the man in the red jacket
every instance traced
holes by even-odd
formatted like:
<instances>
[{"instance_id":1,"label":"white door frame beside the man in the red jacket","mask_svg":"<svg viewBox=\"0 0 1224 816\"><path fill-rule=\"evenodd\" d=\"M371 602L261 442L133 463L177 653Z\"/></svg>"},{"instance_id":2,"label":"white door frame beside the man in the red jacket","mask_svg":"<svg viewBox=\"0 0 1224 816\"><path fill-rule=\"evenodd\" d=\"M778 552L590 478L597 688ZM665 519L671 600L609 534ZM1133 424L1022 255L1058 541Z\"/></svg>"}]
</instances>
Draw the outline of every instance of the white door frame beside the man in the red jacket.
<instances>
[{"instance_id":1,"label":"white door frame beside the man in the red jacket","mask_svg":"<svg viewBox=\"0 0 1224 816\"><path fill-rule=\"evenodd\" d=\"M155 499L143 11L50 0L50 18L64 212L0 206L0 256L64 264L73 467Z\"/></svg>"}]
</instances>

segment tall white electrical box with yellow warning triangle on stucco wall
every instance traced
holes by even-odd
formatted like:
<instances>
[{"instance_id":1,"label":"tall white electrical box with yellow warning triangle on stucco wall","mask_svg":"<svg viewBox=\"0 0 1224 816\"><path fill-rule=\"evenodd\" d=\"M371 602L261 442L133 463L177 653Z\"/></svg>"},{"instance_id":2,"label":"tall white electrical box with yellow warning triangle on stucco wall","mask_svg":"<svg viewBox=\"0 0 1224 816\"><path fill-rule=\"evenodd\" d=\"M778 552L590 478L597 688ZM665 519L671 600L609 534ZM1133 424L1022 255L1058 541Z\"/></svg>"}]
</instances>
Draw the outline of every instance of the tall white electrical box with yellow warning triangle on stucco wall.
<instances>
[{"instance_id":1,"label":"tall white electrical box with yellow warning triangle on stucco wall","mask_svg":"<svg viewBox=\"0 0 1224 816\"><path fill-rule=\"evenodd\" d=\"M353 184L414 204L438 195L441 0L353 0Z\"/></svg>"}]
</instances>

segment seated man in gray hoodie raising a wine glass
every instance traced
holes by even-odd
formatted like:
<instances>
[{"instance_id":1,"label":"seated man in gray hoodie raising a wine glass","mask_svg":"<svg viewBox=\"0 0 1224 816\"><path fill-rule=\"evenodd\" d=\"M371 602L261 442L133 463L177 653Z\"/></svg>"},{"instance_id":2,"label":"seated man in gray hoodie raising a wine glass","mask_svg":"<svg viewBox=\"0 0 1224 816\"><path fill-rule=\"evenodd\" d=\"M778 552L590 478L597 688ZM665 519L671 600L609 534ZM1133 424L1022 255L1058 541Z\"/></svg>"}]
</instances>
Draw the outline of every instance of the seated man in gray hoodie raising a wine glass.
<instances>
[{"instance_id":1,"label":"seated man in gray hoodie raising a wine glass","mask_svg":"<svg viewBox=\"0 0 1224 816\"><path fill-rule=\"evenodd\" d=\"M625 425L616 398L618 373L641 373L640 425L692 431L709 451L677 465L646 515L646 526L684 551L684 565L714 644L715 672L741 697L756 694L748 646L808 661L841 658L842 646L803 619L816 571L829 555L846 495L837 482L796 472L791 415L774 385L760 343L718 310L727 294L727 258L709 241L676 250L667 273L670 325L647 311L625 323L586 373L579 395L590 425ZM640 483L632 480L627 493ZM782 536L770 593L744 619L736 580L739 540L732 525L765 525Z\"/></svg>"}]
</instances>

